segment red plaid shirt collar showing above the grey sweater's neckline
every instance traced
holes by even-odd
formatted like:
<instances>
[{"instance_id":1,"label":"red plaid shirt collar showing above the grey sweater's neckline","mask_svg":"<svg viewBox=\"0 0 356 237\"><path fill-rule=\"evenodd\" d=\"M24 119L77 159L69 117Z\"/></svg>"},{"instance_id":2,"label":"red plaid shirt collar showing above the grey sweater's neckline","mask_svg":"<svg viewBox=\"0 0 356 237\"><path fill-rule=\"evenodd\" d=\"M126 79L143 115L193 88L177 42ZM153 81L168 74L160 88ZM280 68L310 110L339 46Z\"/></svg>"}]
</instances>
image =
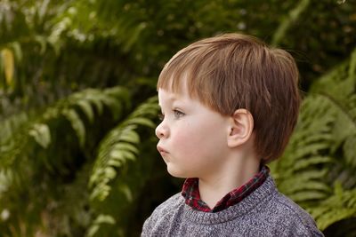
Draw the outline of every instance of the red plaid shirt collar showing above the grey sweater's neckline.
<instances>
[{"instance_id":1,"label":"red plaid shirt collar showing above the grey sweater's neckline","mask_svg":"<svg viewBox=\"0 0 356 237\"><path fill-rule=\"evenodd\" d=\"M206 205L206 202L200 199L198 178L187 178L185 180L182 188L182 195L185 198L185 203L192 209L198 209L204 212L218 212L239 203L239 201L242 201L248 194L254 192L263 184L269 173L270 169L267 166L263 166L261 171L258 172L254 178L251 178L245 185L232 190L229 194L226 194L216 203L213 209L210 209Z\"/></svg>"}]
</instances>

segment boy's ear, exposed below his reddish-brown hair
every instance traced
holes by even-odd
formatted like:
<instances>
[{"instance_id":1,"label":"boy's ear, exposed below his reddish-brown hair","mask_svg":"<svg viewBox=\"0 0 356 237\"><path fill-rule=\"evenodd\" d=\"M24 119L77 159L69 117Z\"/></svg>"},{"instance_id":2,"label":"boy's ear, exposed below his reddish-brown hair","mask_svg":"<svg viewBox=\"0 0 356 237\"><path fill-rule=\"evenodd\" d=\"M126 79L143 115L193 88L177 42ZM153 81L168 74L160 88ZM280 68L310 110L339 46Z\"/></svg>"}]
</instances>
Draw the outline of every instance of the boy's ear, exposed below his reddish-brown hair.
<instances>
[{"instance_id":1,"label":"boy's ear, exposed below his reddish-brown hair","mask_svg":"<svg viewBox=\"0 0 356 237\"><path fill-rule=\"evenodd\" d=\"M231 115L228 146L240 146L251 138L254 130L254 117L245 108L239 108Z\"/></svg>"}]
</instances>

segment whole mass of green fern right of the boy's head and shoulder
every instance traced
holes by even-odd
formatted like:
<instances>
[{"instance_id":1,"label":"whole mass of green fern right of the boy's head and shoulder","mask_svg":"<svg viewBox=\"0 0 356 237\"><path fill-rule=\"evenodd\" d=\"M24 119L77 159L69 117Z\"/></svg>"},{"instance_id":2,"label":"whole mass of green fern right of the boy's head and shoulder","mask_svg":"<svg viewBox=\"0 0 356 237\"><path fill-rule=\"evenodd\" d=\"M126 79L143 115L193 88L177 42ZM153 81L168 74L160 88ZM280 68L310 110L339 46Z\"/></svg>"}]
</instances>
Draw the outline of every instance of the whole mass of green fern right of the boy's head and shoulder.
<instances>
[{"instance_id":1,"label":"whole mass of green fern right of the boy's head and shoulder","mask_svg":"<svg viewBox=\"0 0 356 237\"><path fill-rule=\"evenodd\" d=\"M356 49L312 84L285 154L271 165L279 190L308 209L321 230L356 217L355 71Z\"/></svg>"}]
</instances>

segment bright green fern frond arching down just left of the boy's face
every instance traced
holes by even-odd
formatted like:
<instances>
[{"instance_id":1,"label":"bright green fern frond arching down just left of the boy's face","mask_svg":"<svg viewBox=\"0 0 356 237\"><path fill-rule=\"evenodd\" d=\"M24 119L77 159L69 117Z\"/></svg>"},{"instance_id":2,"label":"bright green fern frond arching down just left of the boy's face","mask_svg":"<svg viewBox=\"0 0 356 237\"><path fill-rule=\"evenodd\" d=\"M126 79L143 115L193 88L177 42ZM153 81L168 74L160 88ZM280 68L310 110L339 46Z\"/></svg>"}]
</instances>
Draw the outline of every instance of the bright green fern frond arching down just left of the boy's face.
<instances>
[{"instance_id":1,"label":"bright green fern frond arching down just left of the boy's face","mask_svg":"<svg viewBox=\"0 0 356 237\"><path fill-rule=\"evenodd\" d=\"M113 186L117 189L115 195L117 196L117 192L121 194L116 198L117 209L125 209L125 207L130 204L134 204L134 199L137 199L146 178L142 173L140 173L139 179L135 178L132 174L134 170L129 171L129 162L142 162L136 161L137 156L139 156L139 146L142 142L138 130L142 126L149 128L155 127L155 123L153 123L151 119L157 115L157 97L148 99L147 102L136 107L131 115L123 122L120 122L117 127L110 130L108 135L101 140L98 155L93 165L93 173L89 179L89 187L92 190L90 199L93 202L93 207L96 206L94 209L96 209L99 214L89 228L88 236L94 236L96 233L99 234L98 231L103 224L117 224L117 217L105 212L102 213L102 209L105 209L102 208L102 205L106 204L104 201L108 198ZM145 170L148 170L148 165L146 164L145 166ZM138 169L137 165L136 169ZM110 212L112 213L112 210ZM120 213L122 215L124 212ZM120 219L120 217L118 218ZM125 236L123 224L119 226L121 226L120 235ZM106 232L108 232L108 230L106 230ZM101 234L102 233L103 232L101 232Z\"/></svg>"}]
</instances>

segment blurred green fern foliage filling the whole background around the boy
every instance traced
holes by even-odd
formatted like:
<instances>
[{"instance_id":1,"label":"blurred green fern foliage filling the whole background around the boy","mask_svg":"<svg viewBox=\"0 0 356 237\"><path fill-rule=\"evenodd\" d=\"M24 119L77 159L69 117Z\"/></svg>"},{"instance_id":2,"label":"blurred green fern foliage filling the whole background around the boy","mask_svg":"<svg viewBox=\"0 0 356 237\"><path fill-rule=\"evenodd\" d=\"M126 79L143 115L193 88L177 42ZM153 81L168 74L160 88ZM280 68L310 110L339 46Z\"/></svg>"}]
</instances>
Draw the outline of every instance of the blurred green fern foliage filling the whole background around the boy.
<instances>
[{"instance_id":1,"label":"blurred green fern foliage filling the whole background around the boy","mask_svg":"<svg viewBox=\"0 0 356 237\"><path fill-rule=\"evenodd\" d=\"M356 236L355 0L1 0L2 236L139 236L182 182L156 152L159 71L224 32L295 57L303 107L273 177L326 236Z\"/></svg>"}]
</instances>

